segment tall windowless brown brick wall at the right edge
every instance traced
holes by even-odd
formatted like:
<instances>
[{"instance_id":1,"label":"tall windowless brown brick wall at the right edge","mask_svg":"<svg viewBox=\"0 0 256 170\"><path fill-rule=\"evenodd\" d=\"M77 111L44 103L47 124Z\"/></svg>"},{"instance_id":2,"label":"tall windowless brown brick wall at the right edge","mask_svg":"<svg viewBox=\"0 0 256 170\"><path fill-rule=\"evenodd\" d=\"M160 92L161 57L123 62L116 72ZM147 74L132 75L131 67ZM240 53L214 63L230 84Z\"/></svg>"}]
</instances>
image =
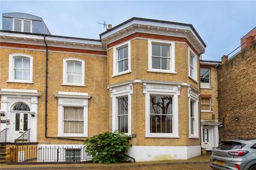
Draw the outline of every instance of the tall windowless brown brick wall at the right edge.
<instances>
[{"instance_id":1,"label":"tall windowless brown brick wall at the right edge","mask_svg":"<svg viewBox=\"0 0 256 170\"><path fill-rule=\"evenodd\" d=\"M218 67L219 121L224 121L221 140L256 138L255 49L256 41Z\"/></svg>"}]
</instances>

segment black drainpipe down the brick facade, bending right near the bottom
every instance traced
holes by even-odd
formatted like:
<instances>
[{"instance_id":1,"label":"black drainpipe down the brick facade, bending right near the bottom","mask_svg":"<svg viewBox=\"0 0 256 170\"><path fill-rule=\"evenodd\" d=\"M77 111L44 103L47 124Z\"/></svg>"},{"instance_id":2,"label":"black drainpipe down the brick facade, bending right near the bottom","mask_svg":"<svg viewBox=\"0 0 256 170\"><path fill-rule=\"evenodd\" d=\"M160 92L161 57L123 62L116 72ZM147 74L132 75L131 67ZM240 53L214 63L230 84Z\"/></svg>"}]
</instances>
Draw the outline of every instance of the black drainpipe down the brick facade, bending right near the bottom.
<instances>
[{"instance_id":1,"label":"black drainpipe down the brick facade, bending right near the bottom","mask_svg":"<svg viewBox=\"0 0 256 170\"><path fill-rule=\"evenodd\" d=\"M56 138L56 137L48 137L47 136L47 94L48 94L48 45L46 42L46 35L44 35L44 44L46 44L46 131L45 131L45 136L46 138L53 138L53 139L68 139L72 141L84 141L84 139L72 139L72 138Z\"/></svg>"}]
</instances>

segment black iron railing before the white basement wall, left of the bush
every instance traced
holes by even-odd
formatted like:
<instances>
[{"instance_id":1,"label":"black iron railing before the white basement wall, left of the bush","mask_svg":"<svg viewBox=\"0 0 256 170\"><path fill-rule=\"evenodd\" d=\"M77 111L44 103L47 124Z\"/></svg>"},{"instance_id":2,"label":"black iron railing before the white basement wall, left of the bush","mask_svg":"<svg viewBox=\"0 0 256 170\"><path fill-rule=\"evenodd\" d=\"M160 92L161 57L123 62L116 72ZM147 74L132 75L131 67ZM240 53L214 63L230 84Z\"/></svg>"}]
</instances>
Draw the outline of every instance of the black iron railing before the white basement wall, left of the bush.
<instances>
[{"instance_id":1,"label":"black iron railing before the white basement wall, left of the bush","mask_svg":"<svg viewBox=\"0 0 256 170\"><path fill-rule=\"evenodd\" d=\"M86 162L92 160L86 146L51 147L51 146L14 146L10 148L11 162Z\"/></svg>"}]
</instances>

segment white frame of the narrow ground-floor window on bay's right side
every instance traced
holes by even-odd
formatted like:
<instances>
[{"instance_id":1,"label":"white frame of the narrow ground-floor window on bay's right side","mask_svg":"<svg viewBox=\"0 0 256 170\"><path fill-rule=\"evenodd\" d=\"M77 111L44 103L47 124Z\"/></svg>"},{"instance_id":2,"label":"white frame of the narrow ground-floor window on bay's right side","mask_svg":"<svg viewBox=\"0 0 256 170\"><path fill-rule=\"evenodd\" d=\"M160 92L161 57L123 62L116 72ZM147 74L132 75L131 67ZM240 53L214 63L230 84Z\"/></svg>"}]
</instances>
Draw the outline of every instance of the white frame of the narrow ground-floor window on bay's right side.
<instances>
[{"instance_id":1,"label":"white frame of the narrow ground-floor window on bay's right side","mask_svg":"<svg viewBox=\"0 0 256 170\"><path fill-rule=\"evenodd\" d=\"M196 92L189 90L188 94L188 117L189 117L189 138L199 138L199 97ZM191 101L195 103L194 106L194 120L193 134L191 134Z\"/></svg>"}]
</instances>

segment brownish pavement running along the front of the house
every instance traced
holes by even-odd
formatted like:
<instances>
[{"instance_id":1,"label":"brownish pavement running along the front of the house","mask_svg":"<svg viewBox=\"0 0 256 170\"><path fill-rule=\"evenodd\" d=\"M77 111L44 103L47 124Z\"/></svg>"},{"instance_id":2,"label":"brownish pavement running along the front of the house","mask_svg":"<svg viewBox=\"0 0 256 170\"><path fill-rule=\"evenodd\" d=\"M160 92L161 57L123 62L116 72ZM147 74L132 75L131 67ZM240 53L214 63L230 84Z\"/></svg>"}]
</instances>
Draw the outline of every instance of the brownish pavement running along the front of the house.
<instances>
[{"instance_id":1,"label":"brownish pavement running along the front of the house","mask_svg":"<svg viewBox=\"0 0 256 170\"><path fill-rule=\"evenodd\" d=\"M188 160L161 160L152 162L135 162L135 163L114 163L114 164L0 164L2 170L22 170L22 169L211 169L209 166L210 155L201 155Z\"/></svg>"}]
</instances>

